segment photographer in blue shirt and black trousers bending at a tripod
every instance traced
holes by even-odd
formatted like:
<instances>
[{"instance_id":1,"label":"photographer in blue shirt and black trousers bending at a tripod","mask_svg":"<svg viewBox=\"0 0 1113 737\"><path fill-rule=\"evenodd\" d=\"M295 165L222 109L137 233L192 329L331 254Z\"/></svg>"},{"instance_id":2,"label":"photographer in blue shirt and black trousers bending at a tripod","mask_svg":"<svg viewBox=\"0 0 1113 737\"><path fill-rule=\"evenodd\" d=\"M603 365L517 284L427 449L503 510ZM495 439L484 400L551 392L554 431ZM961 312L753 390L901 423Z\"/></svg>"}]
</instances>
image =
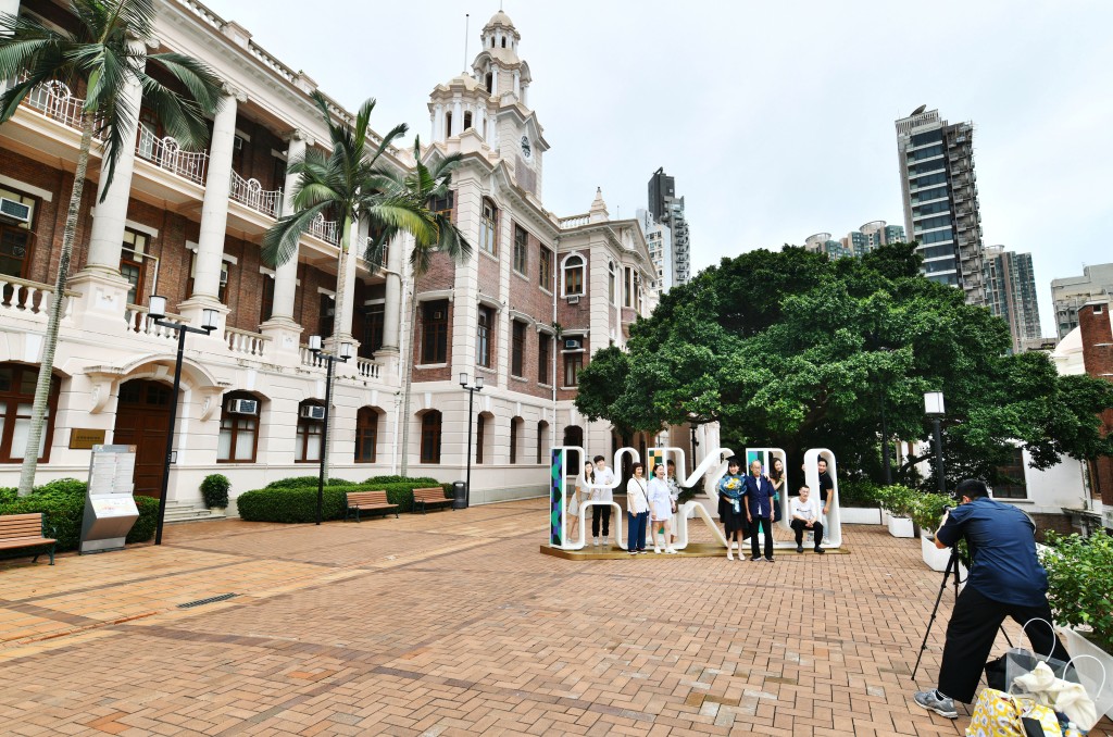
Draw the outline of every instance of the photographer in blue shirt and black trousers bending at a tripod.
<instances>
[{"instance_id":1,"label":"photographer in blue shirt and black trousers bending at a tripod","mask_svg":"<svg viewBox=\"0 0 1113 737\"><path fill-rule=\"evenodd\" d=\"M969 577L947 625L938 688L915 696L916 704L951 719L958 716L956 699L974 701L1005 617L1021 625L1033 618L1052 621L1047 572L1036 557L1035 524L1015 507L991 499L982 481L967 479L956 491L962 505L943 519L935 547L953 548L965 539ZM1035 652L1066 660L1066 650L1046 627L1037 622L1026 633Z\"/></svg>"}]
</instances>

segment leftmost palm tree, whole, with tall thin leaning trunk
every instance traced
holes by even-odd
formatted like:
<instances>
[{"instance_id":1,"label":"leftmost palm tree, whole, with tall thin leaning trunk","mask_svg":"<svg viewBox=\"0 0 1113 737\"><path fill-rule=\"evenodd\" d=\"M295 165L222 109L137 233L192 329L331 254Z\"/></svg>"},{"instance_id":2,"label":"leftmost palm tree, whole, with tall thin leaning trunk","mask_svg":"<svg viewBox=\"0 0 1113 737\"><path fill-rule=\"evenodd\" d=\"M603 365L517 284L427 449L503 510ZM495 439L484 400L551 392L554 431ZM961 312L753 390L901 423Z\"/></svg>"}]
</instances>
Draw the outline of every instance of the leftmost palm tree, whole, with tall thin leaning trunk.
<instances>
[{"instance_id":1,"label":"leftmost palm tree, whole, with tall thin leaning trunk","mask_svg":"<svg viewBox=\"0 0 1113 737\"><path fill-rule=\"evenodd\" d=\"M148 56L136 43L154 39L154 0L70 0L69 11L73 16L73 31L57 30L28 17L0 13L0 79L17 80L0 96L0 125L16 114L23 98L39 85L59 80L70 88L82 86L86 89L81 148L66 212L62 253L19 478L21 495L29 494L35 484L58 346L58 325L93 138L99 139L100 168L107 194L120 153L135 145L134 140L125 140L125 136L135 130L139 116L127 96L130 86L141 88L144 98L167 132L185 148L205 145L208 139L205 116L214 114L220 105L221 81L206 65L180 53ZM146 70L148 62L165 69L185 87L186 94L150 77Z\"/></svg>"}]
</instances>

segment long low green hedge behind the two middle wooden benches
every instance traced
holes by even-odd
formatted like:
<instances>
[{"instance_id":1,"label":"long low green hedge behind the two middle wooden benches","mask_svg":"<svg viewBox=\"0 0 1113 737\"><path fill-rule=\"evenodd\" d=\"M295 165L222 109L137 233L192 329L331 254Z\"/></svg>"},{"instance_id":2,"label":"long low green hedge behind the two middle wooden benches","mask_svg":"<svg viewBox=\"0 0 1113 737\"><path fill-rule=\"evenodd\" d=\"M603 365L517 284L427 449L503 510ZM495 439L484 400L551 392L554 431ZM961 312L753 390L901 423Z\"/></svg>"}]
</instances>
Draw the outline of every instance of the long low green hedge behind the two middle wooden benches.
<instances>
[{"instance_id":1,"label":"long low green hedge behind the two middle wooden benches","mask_svg":"<svg viewBox=\"0 0 1113 737\"><path fill-rule=\"evenodd\" d=\"M398 476L382 476L395 479ZM385 491L386 500L398 505L398 512L411 512L414 508L414 489L441 487L445 497L452 492L451 483L440 483L434 479L410 479L398 483L346 483L325 487L321 519L342 520L347 511L345 494L352 491ZM249 522L315 522L317 519L317 488L290 487L266 488L246 491L236 498L240 519Z\"/></svg>"}]
</instances>

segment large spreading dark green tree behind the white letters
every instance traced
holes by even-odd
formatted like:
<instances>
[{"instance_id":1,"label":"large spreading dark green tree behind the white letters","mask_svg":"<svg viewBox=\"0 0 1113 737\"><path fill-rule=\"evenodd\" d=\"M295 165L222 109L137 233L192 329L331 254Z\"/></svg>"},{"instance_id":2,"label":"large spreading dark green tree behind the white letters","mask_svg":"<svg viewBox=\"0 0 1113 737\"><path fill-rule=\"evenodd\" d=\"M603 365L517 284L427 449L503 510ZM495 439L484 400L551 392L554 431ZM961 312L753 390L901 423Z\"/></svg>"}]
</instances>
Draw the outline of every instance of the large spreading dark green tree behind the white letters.
<instances>
[{"instance_id":1,"label":"large spreading dark green tree behind the white letters","mask_svg":"<svg viewBox=\"0 0 1113 737\"><path fill-rule=\"evenodd\" d=\"M860 261L757 250L671 289L627 352L597 353L577 406L637 430L719 422L726 445L782 448L790 462L830 448L876 478L883 407L894 439L927 438L923 394L938 390L952 482L1002 481L1015 443L1036 468L1113 451L1096 416L1113 385L1058 376L1046 354L1008 345L1004 321L919 275L914 246ZM928 445L896 475L914 481L933 460Z\"/></svg>"}]
</instances>

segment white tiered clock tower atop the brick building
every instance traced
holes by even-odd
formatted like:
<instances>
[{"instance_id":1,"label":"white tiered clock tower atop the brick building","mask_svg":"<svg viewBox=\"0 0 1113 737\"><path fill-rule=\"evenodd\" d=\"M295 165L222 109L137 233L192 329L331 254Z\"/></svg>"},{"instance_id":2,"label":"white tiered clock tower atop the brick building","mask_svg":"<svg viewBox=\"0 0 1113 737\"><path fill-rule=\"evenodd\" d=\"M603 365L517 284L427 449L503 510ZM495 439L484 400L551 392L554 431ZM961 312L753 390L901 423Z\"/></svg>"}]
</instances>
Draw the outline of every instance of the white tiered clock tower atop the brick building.
<instances>
[{"instance_id":1,"label":"white tiered clock tower atop the brick building","mask_svg":"<svg viewBox=\"0 0 1113 737\"><path fill-rule=\"evenodd\" d=\"M430 96L432 140L447 151L482 151L506 166L514 183L541 200L549 144L529 107L530 66L519 58L521 33L503 11L486 22L471 75L437 85Z\"/></svg>"}]
</instances>

